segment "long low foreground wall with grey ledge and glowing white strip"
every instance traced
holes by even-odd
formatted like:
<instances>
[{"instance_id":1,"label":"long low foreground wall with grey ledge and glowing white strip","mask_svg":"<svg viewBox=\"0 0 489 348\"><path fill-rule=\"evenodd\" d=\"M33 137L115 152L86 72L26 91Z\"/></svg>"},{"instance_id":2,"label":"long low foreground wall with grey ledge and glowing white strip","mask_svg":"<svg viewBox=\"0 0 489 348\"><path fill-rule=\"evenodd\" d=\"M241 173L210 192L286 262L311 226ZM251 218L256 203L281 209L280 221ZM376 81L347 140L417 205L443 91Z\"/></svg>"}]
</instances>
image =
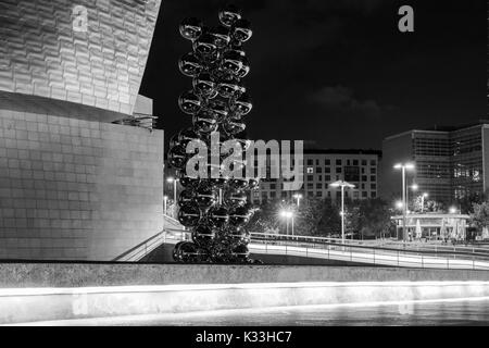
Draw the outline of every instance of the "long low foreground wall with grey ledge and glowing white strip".
<instances>
[{"instance_id":1,"label":"long low foreground wall with grey ledge and glowing white strip","mask_svg":"<svg viewBox=\"0 0 489 348\"><path fill-rule=\"evenodd\" d=\"M488 279L488 271L465 270L0 263L0 324L276 306L403 306L487 297Z\"/></svg>"}]
</instances>

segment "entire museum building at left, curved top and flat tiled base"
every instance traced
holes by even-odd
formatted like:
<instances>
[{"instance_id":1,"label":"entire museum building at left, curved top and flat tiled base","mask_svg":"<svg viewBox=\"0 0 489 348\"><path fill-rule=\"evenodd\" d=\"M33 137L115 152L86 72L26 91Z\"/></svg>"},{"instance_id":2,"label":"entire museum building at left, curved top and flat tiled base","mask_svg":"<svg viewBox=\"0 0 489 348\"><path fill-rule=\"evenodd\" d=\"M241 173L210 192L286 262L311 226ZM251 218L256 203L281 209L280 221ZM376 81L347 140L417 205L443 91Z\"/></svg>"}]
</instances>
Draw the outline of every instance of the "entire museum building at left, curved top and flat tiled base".
<instances>
[{"instance_id":1,"label":"entire museum building at left, curved top and flat tiled base","mask_svg":"<svg viewBox=\"0 0 489 348\"><path fill-rule=\"evenodd\" d=\"M138 95L159 10L0 0L0 260L110 261L162 231L163 132Z\"/></svg>"}]
</instances>

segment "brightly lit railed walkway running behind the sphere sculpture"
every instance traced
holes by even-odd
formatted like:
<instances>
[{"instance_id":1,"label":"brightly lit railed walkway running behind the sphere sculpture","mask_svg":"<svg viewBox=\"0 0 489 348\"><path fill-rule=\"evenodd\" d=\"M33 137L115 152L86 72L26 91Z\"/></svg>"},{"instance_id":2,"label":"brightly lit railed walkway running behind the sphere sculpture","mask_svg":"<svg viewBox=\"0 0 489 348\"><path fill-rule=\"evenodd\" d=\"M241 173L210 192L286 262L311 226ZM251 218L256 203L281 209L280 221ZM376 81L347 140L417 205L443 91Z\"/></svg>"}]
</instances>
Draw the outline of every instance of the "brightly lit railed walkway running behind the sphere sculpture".
<instances>
[{"instance_id":1,"label":"brightly lit railed walkway running behind the sphere sculpture","mask_svg":"<svg viewBox=\"0 0 489 348\"><path fill-rule=\"evenodd\" d=\"M165 225L177 228L165 227L164 231L113 261L139 261L162 244L191 240L190 232L185 231L178 221L165 216ZM342 244L339 238L251 233L249 249L254 253L288 254L380 265L489 270L489 252L484 248L462 250L444 246L422 248L404 243L386 245L387 247L381 244L367 245L362 240L348 240Z\"/></svg>"}]
</instances>

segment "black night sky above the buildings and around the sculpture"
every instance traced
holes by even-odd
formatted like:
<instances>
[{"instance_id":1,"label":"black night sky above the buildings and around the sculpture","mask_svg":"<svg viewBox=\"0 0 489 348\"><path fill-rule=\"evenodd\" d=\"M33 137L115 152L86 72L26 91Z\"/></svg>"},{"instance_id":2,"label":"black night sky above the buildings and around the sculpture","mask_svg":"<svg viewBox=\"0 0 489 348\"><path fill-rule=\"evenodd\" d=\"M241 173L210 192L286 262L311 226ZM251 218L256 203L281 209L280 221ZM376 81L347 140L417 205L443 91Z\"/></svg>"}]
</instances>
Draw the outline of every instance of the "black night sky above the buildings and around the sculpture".
<instances>
[{"instance_id":1,"label":"black night sky above the buildings and around the sculpture","mask_svg":"<svg viewBox=\"0 0 489 348\"><path fill-rule=\"evenodd\" d=\"M191 50L187 16L218 24L223 1L163 0L140 92L154 99L170 138L191 125L178 109L191 79L178 71ZM487 115L484 0L233 1L251 21L243 78L253 98L251 139L313 140L322 148L381 148L412 128L466 124ZM414 9L414 33L398 9Z\"/></svg>"}]
</instances>

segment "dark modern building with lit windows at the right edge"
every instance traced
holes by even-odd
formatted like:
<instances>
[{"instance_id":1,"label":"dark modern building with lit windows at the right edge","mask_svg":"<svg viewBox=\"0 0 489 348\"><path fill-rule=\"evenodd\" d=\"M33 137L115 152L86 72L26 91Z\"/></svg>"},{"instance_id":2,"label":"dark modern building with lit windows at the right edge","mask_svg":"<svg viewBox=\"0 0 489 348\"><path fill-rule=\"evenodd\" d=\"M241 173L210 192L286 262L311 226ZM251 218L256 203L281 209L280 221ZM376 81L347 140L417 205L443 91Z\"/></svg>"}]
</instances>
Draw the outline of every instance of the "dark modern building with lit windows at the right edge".
<instances>
[{"instance_id":1,"label":"dark modern building with lit windows at the right edge","mask_svg":"<svg viewBox=\"0 0 489 348\"><path fill-rule=\"evenodd\" d=\"M408 173L408 185L417 184L418 192L427 192L430 199L451 202L479 195L489 185L489 121L393 135L384 140L383 153L383 198L401 197L401 173L393 165L408 161L416 166Z\"/></svg>"}]
</instances>

